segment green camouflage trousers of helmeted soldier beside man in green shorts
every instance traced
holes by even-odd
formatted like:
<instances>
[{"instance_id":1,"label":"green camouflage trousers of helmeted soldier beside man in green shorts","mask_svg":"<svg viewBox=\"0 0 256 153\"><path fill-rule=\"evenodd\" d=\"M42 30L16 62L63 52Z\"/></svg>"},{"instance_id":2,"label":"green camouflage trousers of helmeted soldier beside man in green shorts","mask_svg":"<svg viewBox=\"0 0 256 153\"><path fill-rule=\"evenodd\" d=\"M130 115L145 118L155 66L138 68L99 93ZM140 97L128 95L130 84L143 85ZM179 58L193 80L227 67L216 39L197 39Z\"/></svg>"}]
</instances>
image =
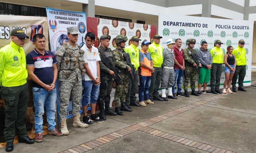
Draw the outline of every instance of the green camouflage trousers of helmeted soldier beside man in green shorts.
<instances>
[{"instance_id":1,"label":"green camouflage trousers of helmeted soldier beside man in green shorts","mask_svg":"<svg viewBox=\"0 0 256 153\"><path fill-rule=\"evenodd\" d=\"M196 90L197 71L193 67L186 67L184 70L185 80L183 82L184 90L187 90L190 81L191 90Z\"/></svg>"}]
</instances>

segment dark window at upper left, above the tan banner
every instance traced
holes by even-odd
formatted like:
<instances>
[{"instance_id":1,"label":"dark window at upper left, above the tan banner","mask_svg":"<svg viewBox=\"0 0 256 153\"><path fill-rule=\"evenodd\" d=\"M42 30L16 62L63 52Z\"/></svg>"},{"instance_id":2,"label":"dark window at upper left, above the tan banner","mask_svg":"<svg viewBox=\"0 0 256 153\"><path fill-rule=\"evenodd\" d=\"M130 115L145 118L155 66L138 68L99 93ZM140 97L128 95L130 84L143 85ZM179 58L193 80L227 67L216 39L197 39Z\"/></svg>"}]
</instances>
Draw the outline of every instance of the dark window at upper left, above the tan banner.
<instances>
[{"instance_id":1,"label":"dark window at upper left, above the tan banner","mask_svg":"<svg viewBox=\"0 0 256 153\"><path fill-rule=\"evenodd\" d=\"M23 15L46 17L46 9L42 7L23 6L16 4L0 3L1 15Z\"/></svg>"}]
</instances>

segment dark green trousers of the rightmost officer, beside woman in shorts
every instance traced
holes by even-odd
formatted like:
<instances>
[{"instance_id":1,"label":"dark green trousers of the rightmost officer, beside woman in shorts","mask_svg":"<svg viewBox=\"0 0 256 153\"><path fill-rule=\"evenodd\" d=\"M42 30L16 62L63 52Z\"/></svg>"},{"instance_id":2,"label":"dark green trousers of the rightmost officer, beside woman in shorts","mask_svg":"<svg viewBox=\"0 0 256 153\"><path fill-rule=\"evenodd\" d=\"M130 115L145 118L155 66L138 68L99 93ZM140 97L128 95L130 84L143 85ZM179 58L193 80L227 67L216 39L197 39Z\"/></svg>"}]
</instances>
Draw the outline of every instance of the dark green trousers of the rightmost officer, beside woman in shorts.
<instances>
[{"instance_id":1,"label":"dark green trousers of the rightmost officer, beside woman in shorts","mask_svg":"<svg viewBox=\"0 0 256 153\"><path fill-rule=\"evenodd\" d=\"M236 71L234 72L234 76L232 78L232 88L236 87L238 75L239 75L238 87L241 88L244 86L243 82L244 82L245 74L246 74L246 66L245 65L242 65L242 66L237 65Z\"/></svg>"}]
</instances>

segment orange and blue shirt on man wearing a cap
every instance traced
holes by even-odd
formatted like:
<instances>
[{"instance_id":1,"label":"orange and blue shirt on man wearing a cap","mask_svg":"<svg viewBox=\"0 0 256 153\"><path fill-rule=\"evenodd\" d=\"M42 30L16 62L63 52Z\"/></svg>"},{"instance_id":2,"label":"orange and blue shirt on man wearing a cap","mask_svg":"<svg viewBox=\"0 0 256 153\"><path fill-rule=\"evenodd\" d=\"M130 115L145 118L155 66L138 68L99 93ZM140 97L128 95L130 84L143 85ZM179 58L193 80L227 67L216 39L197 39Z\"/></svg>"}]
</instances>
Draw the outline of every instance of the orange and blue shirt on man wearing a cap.
<instances>
[{"instance_id":1,"label":"orange and blue shirt on man wearing a cap","mask_svg":"<svg viewBox=\"0 0 256 153\"><path fill-rule=\"evenodd\" d=\"M150 61L152 61L151 55L149 52L144 52L142 49L139 52L139 62L143 62L145 63L148 67L150 66ZM146 69L142 66L139 67L139 74L146 76L146 77L150 77L151 76L151 71L149 69Z\"/></svg>"}]
</instances>

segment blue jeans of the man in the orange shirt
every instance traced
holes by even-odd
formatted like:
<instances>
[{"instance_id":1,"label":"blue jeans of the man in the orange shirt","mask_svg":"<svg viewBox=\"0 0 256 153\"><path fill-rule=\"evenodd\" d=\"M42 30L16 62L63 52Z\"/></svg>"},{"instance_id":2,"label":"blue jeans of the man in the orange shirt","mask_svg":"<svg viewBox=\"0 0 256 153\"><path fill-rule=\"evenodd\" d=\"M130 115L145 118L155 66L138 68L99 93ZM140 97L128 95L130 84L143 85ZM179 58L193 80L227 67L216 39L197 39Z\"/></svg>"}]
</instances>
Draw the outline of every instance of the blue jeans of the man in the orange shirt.
<instances>
[{"instance_id":1,"label":"blue jeans of the man in the orange shirt","mask_svg":"<svg viewBox=\"0 0 256 153\"><path fill-rule=\"evenodd\" d=\"M148 100L148 89L151 84L151 76L146 77L143 75L140 75L140 86L139 86L139 102Z\"/></svg>"}]
</instances>

